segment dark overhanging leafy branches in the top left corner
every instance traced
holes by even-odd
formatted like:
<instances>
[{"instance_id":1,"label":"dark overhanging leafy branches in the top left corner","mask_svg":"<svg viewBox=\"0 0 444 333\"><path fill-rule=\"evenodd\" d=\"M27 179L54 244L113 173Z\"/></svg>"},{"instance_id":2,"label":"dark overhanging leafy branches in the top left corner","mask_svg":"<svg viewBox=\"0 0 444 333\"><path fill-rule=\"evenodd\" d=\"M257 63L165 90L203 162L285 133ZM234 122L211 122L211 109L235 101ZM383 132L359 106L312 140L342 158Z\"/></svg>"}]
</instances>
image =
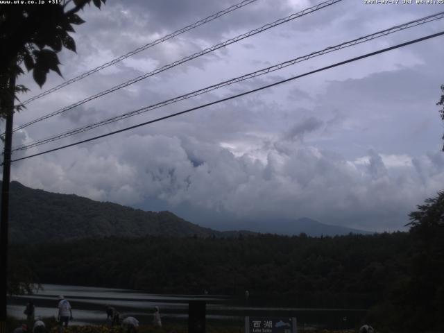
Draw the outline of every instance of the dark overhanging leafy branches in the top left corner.
<instances>
[{"instance_id":1,"label":"dark overhanging leafy branches in the top left corner","mask_svg":"<svg viewBox=\"0 0 444 333\"><path fill-rule=\"evenodd\" d=\"M69 33L83 24L77 12L87 4L101 7L106 0L57 0L58 3L0 5L0 116L5 117L11 98L25 92L23 85L10 89L10 78L32 71L42 87L49 71L62 75L58 55L63 48L76 51ZM47 1L48 2L48 1ZM11 96L12 92L15 96ZM15 108L20 110L20 107Z\"/></svg>"}]
</instances>

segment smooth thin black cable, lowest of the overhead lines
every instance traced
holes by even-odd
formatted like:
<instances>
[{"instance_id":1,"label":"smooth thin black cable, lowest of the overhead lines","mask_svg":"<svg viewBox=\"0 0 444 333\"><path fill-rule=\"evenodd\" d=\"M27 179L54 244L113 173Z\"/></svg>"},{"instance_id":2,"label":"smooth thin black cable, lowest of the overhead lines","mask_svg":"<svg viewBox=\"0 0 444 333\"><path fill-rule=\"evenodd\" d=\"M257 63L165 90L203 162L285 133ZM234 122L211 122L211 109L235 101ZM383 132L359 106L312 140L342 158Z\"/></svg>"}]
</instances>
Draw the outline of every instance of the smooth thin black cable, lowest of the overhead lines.
<instances>
[{"instance_id":1,"label":"smooth thin black cable, lowest of the overhead lines","mask_svg":"<svg viewBox=\"0 0 444 333\"><path fill-rule=\"evenodd\" d=\"M117 133L126 132L127 130L133 130L134 128L138 128L138 127L141 127L141 126L146 126L146 125L148 125L150 123L156 123L157 121L162 121L162 120L165 120L165 119L176 117L176 116L179 116L180 114L185 114L185 113L188 113L188 112L191 112L191 111L194 111L194 110L198 110L198 109L201 109L201 108L206 108L207 106L210 106L210 105L214 105L214 104L217 104L217 103L222 103L222 102L225 102L225 101L229 101L231 99L236 99L236 98L238 98L240 96L252 94L253 92L259 92L260 90L267 89L267 88L270 88L270 87L274 87L275 85L280 85L282 83L287 83L287 82L289 82L291 80L296 80L298 78L302 78L304 76L309 76L311 74L315 74L315 73L318 73L320 71L325 71L327 69L331 69L331 68L334 68L334 67L338 67L338 66L341 66L341 65L348 64L350 62L355 62L357 60L361 60L361 59L364 59L364 58L376 56L379 53L384 53L384 52L391 51L391 50L394 50L394 49L399 49L400 47L407 46L407 45L410 45L410 44L415 44L415 43L418 43L418 42L422 42L424 40L429 40L431 38L438 37L438 36L441 36L441 35L444 35L444 31L441 31L441 33L434 33L432 35L427 35L425 37L421 37L421 38L418 38L416 40L411 40L409 42L404 42L402 44L397 44L395 46L387 47L386 49L380 49L378 51L374 51L374 52L371 52L371 53L366 53L363 56L351 58L351 59L344 60L344 61L341 61L341 62L336 62L336 64L334 64L334 65L330 65L330 66L327 66L327 67L322 67L320 69L316 69L314 71L309 71L309 72L307 72L305 74L300 74L298 76L293 76L293 77L287 78L285 80L280 80L278 82L271 83L270 85L264 85L264 86L256 88L256 89L249 90L248 92L242 92L241 94L236 94L236 95L233 95L233 96L230 96L230 97L226 97L225 99L219 99L218 101L214 101L214 102L211 102L211 103L206 103L206 104L203 104L203 105L199 105L199 106L196 106L194 108L190 108L190 109L187 109L187 110L184 110L184 111L181 111L181 112L176 112L176 113L173 113L173 114L169 114L167 116L160 117L160 118L157 118L157 119L153 119L153 120L150 120L150 121L146 121L144 123L139 123L137 125L130 126L130 127L127 127L127 128L122 128L121 130L114 130L113 132L110 132L110 133L107 133L107 134L103 134L103 135L98 135L96 137L91 137L89 139L81 140L81 141L78 141L78 142L74 142L73 144L67 144L65 146L60 146L58 148L49 149L48 151L42 151L40 153L36 153L36 154L33 154L33 155L28 155L28 156L20 157L20 158L17 158L15 160L11 160L11 162L17 162L17 161L21 161L21 160L26 160L26 159L31 158L31 157L36 157L36 156L44 155L44 154L47 154L47 153L52 153L53 151L60 151L61 149L69 148L69 147L72 147L72 146L77 146L78 144L84 144L85 142L90 142L90 141L93 141L93 140L96 140L96 139L101 139L103 137L108 137L110 135L114 135L114 134L117 134Z\"/></svg>"}]
</instances>

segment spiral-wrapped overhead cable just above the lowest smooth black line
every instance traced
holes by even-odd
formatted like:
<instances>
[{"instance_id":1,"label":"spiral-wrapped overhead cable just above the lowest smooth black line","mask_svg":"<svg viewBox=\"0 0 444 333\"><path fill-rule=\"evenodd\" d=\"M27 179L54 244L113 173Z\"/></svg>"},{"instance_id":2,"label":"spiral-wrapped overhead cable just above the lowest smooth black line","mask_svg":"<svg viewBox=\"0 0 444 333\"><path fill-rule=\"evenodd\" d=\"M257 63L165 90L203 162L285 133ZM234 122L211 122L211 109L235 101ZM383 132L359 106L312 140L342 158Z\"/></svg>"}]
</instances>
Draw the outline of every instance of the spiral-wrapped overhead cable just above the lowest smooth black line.
<instances>
[{"instance_id":1,"label":"spiral-wrapped overhead cable just above the lowest smooth black line","mask_svg":"<svg viewBox=\"0 0 444 333\"><path fill-rule=\"evenodd\" d=\"M126 113L121 114L121 115L116 116L116 117L111 117L111 118L105 119L103 121L98 121L96 123L89 124L87 126L82 126L80 128L76 128L74 130L69 130L69 131L67 131L65 133L60 133L58 135L53 135L51 137L46 137L46 138L40 139L40 140L38 140L36 142L31 142L29 144L22 144L21 146L17 146L15 148L13 148L12 151L20 151L20 150L25 150L25 149L28 149L28 148L33 148L35 146L40 146L42 144L47 144L49 142L53 142L53 141L56 141L58 139L63 139L65 137L70 137L71 135L76 135L78 133L83 133L83 132L86 132L88 130L93 130L94 128L98 128L100 126L104 126L104 125L107 125L109 123L113 123L115 121L119 121L121 119L126 119L126 118L129 118L129 117L133 117L133 116L135 116L137 114L141 114L141 113L144 113L144 112L155 110L157 108L161 108L163 106L166 106L166 105L169 105L169 104L172 104L172 103L176 103L178 101L183 101L185 99L190 99L191 97L198 96L200 94L205 94L207 92L210 92L210 91L215 90L215 89L219 89L221 87L232 85L233 83L239 83L239 82L241 82L243 80L248 80L250 78L255 78L257 76L268 74L268 73L271 73L272 71L277 71L277 70L282 69L284 67L295 65L298 62L309 60L310 58L314 58L314 57L317 57L317 56L322 56L325 53L330 53L330 52L333 52L333 51L338 51L340 49L345 49L346 47L350 47L350 46L354 46L354 45L361 44L361 43L364 43L364 42L368 42L370 40L374 40L375 38L383 37L383 36L389 35L391 33L398 32L398 31L403 31L403 30L405 30L407 28L413 28L413 27L419 26L421 24L425 24L425 23L428 23L428 22L433 22L433 21L435 21L437 19L443 19L443 17L444 17L444 12L438 12L438 13L436 13L434 15L429 15L427 17L422 17L420 19L416 19L414 21L407 22L405 24L400 24L398 26L393 26L393 27L385 29L383 31L378 31L377 33L366 35L364 37L359 37L359 38L357 38L355 40L351 40L351 41L348 41L348 42L343 42L343 43L335 45L335 46L330 46L330 47L327 47L326 49L323 49L321 51L315 51L315 52L309 53L306 56L300 56L298 58L295 58L295 59L292 59L292 60L288 60L286 62L281 62L278 65L273 65L273 66L270 66L270 67L266 67L264 69L260 69L258 71L253 72L253 73L250 73L250 74L245 74L245 75L239 76L237 78L232 78L230 80L225 80L225 81L223 81L221 83L217 83L216 85L210 85L209 87L205 87L203 89L198 89L198 90L196 90L194 92L189 92L187 94L183 94L181 96L174 97L173 99L169 99L167 101L162 101L160 103L149 105L149 106L144 107L144 108L140 108L140 109L137 109L137 110L126 112Z\"/></svg>"}]
</instances>

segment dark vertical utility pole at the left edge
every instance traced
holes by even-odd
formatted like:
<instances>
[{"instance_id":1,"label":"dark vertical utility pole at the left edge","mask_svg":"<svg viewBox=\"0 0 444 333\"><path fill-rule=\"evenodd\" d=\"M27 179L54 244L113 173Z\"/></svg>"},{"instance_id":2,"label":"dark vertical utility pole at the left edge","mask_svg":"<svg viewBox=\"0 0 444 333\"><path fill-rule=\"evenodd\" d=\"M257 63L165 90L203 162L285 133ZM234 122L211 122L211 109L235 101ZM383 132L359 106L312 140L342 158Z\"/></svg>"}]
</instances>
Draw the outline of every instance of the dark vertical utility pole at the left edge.
<instances>
[{"instance_id":1,"label":"dark vertical utility pole at the left edge","mask_svg":"<svg viewBox=\"0 0 444 333\"><path fill-rule=\"evenodd\" d=\"M12 121L14 118L15 73L9 78L6 106L5 146L3 149L3 181L1 182L0 220L0 333L6 333L6 301L8 293L8 209L11 167Z\"/></svg>"}]
</instances>

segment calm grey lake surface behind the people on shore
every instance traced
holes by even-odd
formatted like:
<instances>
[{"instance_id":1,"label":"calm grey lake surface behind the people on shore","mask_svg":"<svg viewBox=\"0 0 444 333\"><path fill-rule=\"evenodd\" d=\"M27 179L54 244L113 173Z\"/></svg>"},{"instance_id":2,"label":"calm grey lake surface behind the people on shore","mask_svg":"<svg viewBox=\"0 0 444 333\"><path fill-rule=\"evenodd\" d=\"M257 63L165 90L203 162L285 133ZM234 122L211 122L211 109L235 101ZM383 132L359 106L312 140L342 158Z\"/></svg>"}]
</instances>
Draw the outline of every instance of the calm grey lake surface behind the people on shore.
<instances>
[{"instance_id":1,"label":"calm grey lake surface behind the people on shore","mask_svg":"<svg viewBox=\"0 0 444 333\"><path fill-rule=\"evenodd\" d=\"M188 302L204 300L207 320L221 323L239 323L245 316L282 316L298 318L301 325L325 325L348 328L359 325L366 309L304 309L292 307L258 307L222 295L158 295L128 289L64 286L42 284L43 290L33 296L15 296L8 299L8 315L24 319L26 302L33 300L35 316L57 316L58 296L71 303L74 325L103 324L106 322L105 305L111 305L122 316L134 316L141 325L151 324L153 308L160 307L162 321L187 323Z\"/></svg>"}]
</instances>

